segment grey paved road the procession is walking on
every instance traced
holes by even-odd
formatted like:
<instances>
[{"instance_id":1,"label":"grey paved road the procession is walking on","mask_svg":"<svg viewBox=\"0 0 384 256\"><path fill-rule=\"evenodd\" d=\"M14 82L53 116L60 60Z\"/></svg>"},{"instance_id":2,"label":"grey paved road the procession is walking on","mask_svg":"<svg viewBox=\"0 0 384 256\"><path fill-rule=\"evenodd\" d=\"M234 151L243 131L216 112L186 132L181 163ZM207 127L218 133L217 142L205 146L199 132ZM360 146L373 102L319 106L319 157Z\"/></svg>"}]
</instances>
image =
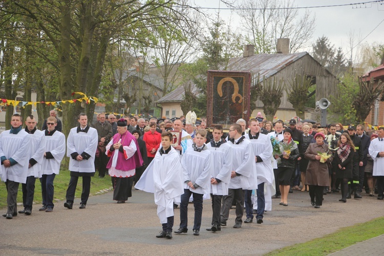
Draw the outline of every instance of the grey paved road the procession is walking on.
<instances>
[{"instance_id":1,"label":"grey paved road the procession is walking on","mask_svg":"<svg viewBox=\"0 0 384 256\"><path fill-rule=\"evenodd\" d=\"M193 205L189 204L190 229L187 234L174 234L172 240L155 238L161 230L156 205L153 194L143 191L134 190L125 204L116 204L112 193L106 193L90 197L86 209L76 206L69 210L59 202L48 213L39 212L40 205L34 205L31 216L0 219L0 254L261 255L383 215L384 202L376 198L364 194L362 200L340 203L340 197L340 193L329 194L322 208L315 209L307 192L294 191L289 194L288 207L273 199L272 211L266 212L263 224L243 223L241 229L234 229L232 209L228 226L216 233L205 231L211 218L210 201L206 200L199 237L192 235ZM75 205L78 203L75 199ZM175 227L179 220L176 209Z\"/></svg>"}]
</instances>

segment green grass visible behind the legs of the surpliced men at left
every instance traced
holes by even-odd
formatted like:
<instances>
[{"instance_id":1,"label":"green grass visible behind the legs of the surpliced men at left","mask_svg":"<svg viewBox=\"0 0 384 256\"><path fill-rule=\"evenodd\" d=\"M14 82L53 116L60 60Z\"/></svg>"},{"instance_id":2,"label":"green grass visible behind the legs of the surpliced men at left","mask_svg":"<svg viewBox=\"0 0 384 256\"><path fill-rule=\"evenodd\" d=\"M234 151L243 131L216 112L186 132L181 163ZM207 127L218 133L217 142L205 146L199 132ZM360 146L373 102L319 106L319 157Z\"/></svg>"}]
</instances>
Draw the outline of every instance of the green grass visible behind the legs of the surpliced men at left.
<instances>
[{"instance_id":1,"label":"green grass visible behind the legs of the surpliced men at left","mask_svg":"<svg viewBox=\"0 0 384 256\"><path fill-rule=\"evenodd\" d=\"M75 197L80 198L81 190L82 190L82 182L81 177L79 178ZM60 170L60 174L56 175L53 185L55 186L55 195L54 199L65 200L66 192L68 188L68 183L70 180L70 172L69 170ZM111 177L105 176L103 179L98 177L98 173L96 172L95 176L91 179L91 194L95 194L96 192L112 187ZM35 203L41 203L41 186L39 179L36 179L35 183ZM17 203L23 203L23 193L22 193L22 184L19 185L18 193L17 193ZM4 182L0 182L0 208L7 207L7 189Z\"/></svg>"}]
</instances>

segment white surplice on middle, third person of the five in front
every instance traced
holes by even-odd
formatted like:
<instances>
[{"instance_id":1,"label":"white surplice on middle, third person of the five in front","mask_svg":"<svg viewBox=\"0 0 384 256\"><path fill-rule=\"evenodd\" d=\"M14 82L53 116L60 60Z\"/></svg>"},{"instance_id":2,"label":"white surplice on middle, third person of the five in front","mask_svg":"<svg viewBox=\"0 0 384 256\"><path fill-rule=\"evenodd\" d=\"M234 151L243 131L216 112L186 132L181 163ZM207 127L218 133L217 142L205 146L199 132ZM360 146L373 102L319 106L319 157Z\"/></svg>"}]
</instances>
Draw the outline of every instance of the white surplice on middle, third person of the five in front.
<instances>
[{"instance_id":1,"label":"white surplice on middle, third person of the five in front","mask_svg":"<svg viewBox=\"0 0 384 256\"><path fill-rule=\"evenodd\" d=\"M210 193L213 195L227 196L228 186L231 180L232 148L228 143L222 143L219 147L214 147L211 143L208 143L207 147L210 151L213 164L210 176L211 178L221 180L218 184L210 184Z\"/></svg>"}]
</instances>

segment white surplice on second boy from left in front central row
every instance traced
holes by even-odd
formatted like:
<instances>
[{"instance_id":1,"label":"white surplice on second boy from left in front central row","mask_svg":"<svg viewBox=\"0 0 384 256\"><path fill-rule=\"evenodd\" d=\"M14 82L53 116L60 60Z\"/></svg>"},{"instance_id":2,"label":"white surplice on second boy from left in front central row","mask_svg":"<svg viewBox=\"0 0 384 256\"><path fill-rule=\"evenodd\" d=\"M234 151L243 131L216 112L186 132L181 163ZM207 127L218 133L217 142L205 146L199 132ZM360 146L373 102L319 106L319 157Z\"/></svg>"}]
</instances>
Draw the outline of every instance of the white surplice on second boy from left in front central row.
<instances>
[{"instance_id":1,"label":"white surplice on second boy from left in front central row","mask_svg":"<svg viewBox=\"0 0 384 256\"><path fill-rule=\"evenodd\" d=\"M204 147L206 148L206 145ZM189 189L197 194L209 194L210 174L213 165L208 148L197 152L193 146L188 147L181 159L181 166L183 167L184 189ZM190 188L185 183L187 180L196 183L199 187L196 189Z\"/></svg>"}]
</instances>

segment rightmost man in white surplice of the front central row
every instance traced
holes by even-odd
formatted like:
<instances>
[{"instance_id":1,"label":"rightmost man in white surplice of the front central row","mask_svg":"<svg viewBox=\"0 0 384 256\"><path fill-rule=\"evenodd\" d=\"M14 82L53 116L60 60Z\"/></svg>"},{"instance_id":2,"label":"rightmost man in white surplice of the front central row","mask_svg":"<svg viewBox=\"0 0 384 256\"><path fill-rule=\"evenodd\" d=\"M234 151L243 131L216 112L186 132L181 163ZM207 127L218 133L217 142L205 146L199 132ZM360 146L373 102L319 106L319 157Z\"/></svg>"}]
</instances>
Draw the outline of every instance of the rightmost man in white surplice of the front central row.
<instances>
[{"instance_id":1,"label":"rightmost man in white surplice of the front central row","mask_svg":"<svg viewBox=\"0 0 384 256\"><path fill-rule=\"evenodd\" d=\"M258 189L257 195L257 214L256 220L258 224L263 223L263 215L265 210L266 201L271 203L270 193L264 195L264 184L271 185L273 182L273 170L272 170L272 144L268 135L260 133L260 125L257 119L249 120L249 133L245 135L246 139L249 139L253 148L254 160L256 162L257 174L258 174ZM270 191L270 190L267 190ZM246 212L247 219L253 219L252 213L252 201L250 199L250 191L246 191ZM247 203L248 202L248 203ZM247 206L248 205L248 206ZM248 209L249 208L249 209ZM270 210L270 209L268 209Z\"/></svg>"}]
</instances>

